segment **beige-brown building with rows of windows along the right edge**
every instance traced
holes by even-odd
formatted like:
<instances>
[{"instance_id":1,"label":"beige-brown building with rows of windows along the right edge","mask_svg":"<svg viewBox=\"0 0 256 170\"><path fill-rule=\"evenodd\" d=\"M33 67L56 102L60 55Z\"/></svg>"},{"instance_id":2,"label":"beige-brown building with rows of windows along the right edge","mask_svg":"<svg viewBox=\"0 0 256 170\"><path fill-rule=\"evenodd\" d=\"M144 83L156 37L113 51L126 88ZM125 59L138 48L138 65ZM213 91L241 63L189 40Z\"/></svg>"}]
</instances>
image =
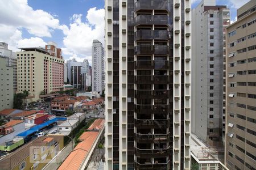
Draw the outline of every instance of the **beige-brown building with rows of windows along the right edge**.
<instances>
[{"instance_id":1,"label":"beige-brown building with rows of windows along the right edge","mask_svg":"<svg viewBox=\"0 0 256 170\"><path fill-rule=\"evenodd\" d=\"M226 28L226 141L229 169L256 169L256 1Z\"/></svg>"}]
</instances>

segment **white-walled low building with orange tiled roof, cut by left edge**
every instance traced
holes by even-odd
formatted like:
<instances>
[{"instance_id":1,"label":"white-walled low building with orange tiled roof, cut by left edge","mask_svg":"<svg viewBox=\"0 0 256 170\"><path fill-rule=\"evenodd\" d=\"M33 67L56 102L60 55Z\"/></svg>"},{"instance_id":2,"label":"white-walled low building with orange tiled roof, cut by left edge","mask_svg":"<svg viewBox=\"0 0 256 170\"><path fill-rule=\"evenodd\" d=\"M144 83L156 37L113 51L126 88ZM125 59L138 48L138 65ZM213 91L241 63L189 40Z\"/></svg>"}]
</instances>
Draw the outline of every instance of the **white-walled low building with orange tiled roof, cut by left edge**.
<instances>
[{"instance_id":1,"label":"white-walled low building with orange tiled roof, cut by left edge","mask_svg":"<svg viewBox=\"0 0 256 170\"><path fill-rule=\"evenodd\" d=\"M19 133L25 131L25 122L22 120L11 120L0 126L0 143L13 139Z\"/></svg>"}]
</instances>

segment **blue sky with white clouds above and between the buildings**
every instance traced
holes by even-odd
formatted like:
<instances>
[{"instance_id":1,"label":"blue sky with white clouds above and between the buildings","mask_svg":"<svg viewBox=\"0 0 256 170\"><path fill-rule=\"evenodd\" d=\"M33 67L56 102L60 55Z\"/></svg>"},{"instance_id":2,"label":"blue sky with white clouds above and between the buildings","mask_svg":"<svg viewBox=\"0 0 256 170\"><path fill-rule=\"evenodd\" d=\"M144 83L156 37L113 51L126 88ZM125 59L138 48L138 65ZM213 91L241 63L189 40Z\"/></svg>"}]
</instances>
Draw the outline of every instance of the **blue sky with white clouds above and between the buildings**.
<instances>
[{"instance_id":1,"label":"blue sky with white clouds above and between the buildings","mask_svg":"<svg viewBox=\"0 0 256 170\"><path fill-rule=\"evenodd\" d=\"M195 8L200 0L191 0ZM236 10L249 0L216 0ZM0 41L9 48L44 46L54 41L65 59L91 62L92 40L104 42L104 0L1 0Z\"/></svg>"}]
</instances>

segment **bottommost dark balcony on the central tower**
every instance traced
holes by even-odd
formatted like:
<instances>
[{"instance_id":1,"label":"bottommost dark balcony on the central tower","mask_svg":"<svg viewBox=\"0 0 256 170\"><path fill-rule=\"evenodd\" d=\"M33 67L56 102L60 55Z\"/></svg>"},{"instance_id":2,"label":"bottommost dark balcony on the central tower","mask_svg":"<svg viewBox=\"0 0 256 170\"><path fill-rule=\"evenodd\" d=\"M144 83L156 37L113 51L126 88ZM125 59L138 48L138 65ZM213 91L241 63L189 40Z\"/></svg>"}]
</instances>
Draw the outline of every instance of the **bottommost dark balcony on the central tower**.
<instances>
[{"instance_id":1,"label":"bottommost dark balcony on the central tower","mask_svg":"<svg viewBox=\"0 0 256 170\"><path fill-rule=\"evenodd\" d=\"M170 160L167 163L138 163L137 161L134 161L134 169L141 169L141 170L166 170L170 169Z\"/></svg>"}]
</instances>

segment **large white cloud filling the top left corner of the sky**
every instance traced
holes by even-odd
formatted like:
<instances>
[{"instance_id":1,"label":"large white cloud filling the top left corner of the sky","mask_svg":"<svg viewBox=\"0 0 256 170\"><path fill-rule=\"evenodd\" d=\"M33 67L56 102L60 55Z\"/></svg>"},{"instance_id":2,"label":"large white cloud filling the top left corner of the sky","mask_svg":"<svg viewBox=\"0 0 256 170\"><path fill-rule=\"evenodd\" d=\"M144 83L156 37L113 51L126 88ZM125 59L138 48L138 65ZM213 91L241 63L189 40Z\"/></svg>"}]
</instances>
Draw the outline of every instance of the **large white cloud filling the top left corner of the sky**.
<instances>
[{"instance_id":1,"label":"large white cloud filling the top left corner of the sky","mask_svg":"<svg viewBox=\"0 0 256 170\"><path fill-rule=\"evenodd\" d=\"M27 0L0 1L1 24L26 28L39 37L51 37L53 29L59 28L59 19L43 10L33 10Z\"/></svg>"}]
</instances>

